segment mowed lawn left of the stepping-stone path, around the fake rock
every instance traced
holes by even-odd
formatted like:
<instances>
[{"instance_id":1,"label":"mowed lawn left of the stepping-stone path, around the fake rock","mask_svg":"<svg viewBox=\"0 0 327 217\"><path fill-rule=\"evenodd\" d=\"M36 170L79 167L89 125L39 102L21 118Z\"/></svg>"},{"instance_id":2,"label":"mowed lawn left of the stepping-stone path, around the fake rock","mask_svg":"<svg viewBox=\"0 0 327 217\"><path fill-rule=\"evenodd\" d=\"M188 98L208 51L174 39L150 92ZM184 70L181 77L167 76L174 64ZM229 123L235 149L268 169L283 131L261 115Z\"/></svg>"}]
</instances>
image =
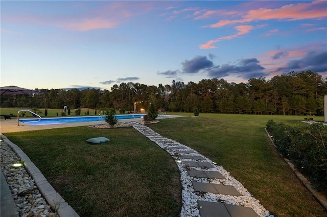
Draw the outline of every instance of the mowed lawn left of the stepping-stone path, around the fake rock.
<instances>
[{"instance_id":1,"label":"mowed lawn left of the stepping-stone path, around the fake rock","mask_svg":"<svg viewBox=\"0 0 327 217\"><path fill-rule=\"evenodd\" d=\"M80 216L178 216L172 157L135 129L71 127L6 133ZM85 140L110 139L90 145Z\"/></svg>"}]
</instances>

